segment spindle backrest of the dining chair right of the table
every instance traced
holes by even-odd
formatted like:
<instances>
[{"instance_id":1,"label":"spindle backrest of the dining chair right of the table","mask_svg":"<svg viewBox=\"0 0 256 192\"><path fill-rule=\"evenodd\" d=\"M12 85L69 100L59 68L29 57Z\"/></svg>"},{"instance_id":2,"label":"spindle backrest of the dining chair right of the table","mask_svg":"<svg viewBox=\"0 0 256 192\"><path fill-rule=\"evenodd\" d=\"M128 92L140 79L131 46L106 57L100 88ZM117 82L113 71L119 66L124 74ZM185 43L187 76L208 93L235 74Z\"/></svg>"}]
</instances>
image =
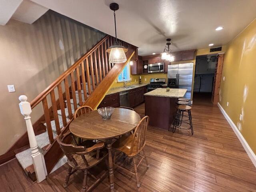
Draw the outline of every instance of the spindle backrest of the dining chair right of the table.
<instances>
[{"instance_id":1,"label":"spindle backrest of the dining chair right of the table","mask_svg":"<svg viewBox=\"0 0 256 192\"><path fill-rule=\"evenodd\" d=\"M132 140L132 146L130 152L134 150L133 148L136 146L137 153L139 153L145 146L146 144L146 132L148 128L148 122L149 122L149 117L145 116L140 120L139 124L135 128L134 134L133 134L133 140Z\"/></svg>"}]
</instances>

